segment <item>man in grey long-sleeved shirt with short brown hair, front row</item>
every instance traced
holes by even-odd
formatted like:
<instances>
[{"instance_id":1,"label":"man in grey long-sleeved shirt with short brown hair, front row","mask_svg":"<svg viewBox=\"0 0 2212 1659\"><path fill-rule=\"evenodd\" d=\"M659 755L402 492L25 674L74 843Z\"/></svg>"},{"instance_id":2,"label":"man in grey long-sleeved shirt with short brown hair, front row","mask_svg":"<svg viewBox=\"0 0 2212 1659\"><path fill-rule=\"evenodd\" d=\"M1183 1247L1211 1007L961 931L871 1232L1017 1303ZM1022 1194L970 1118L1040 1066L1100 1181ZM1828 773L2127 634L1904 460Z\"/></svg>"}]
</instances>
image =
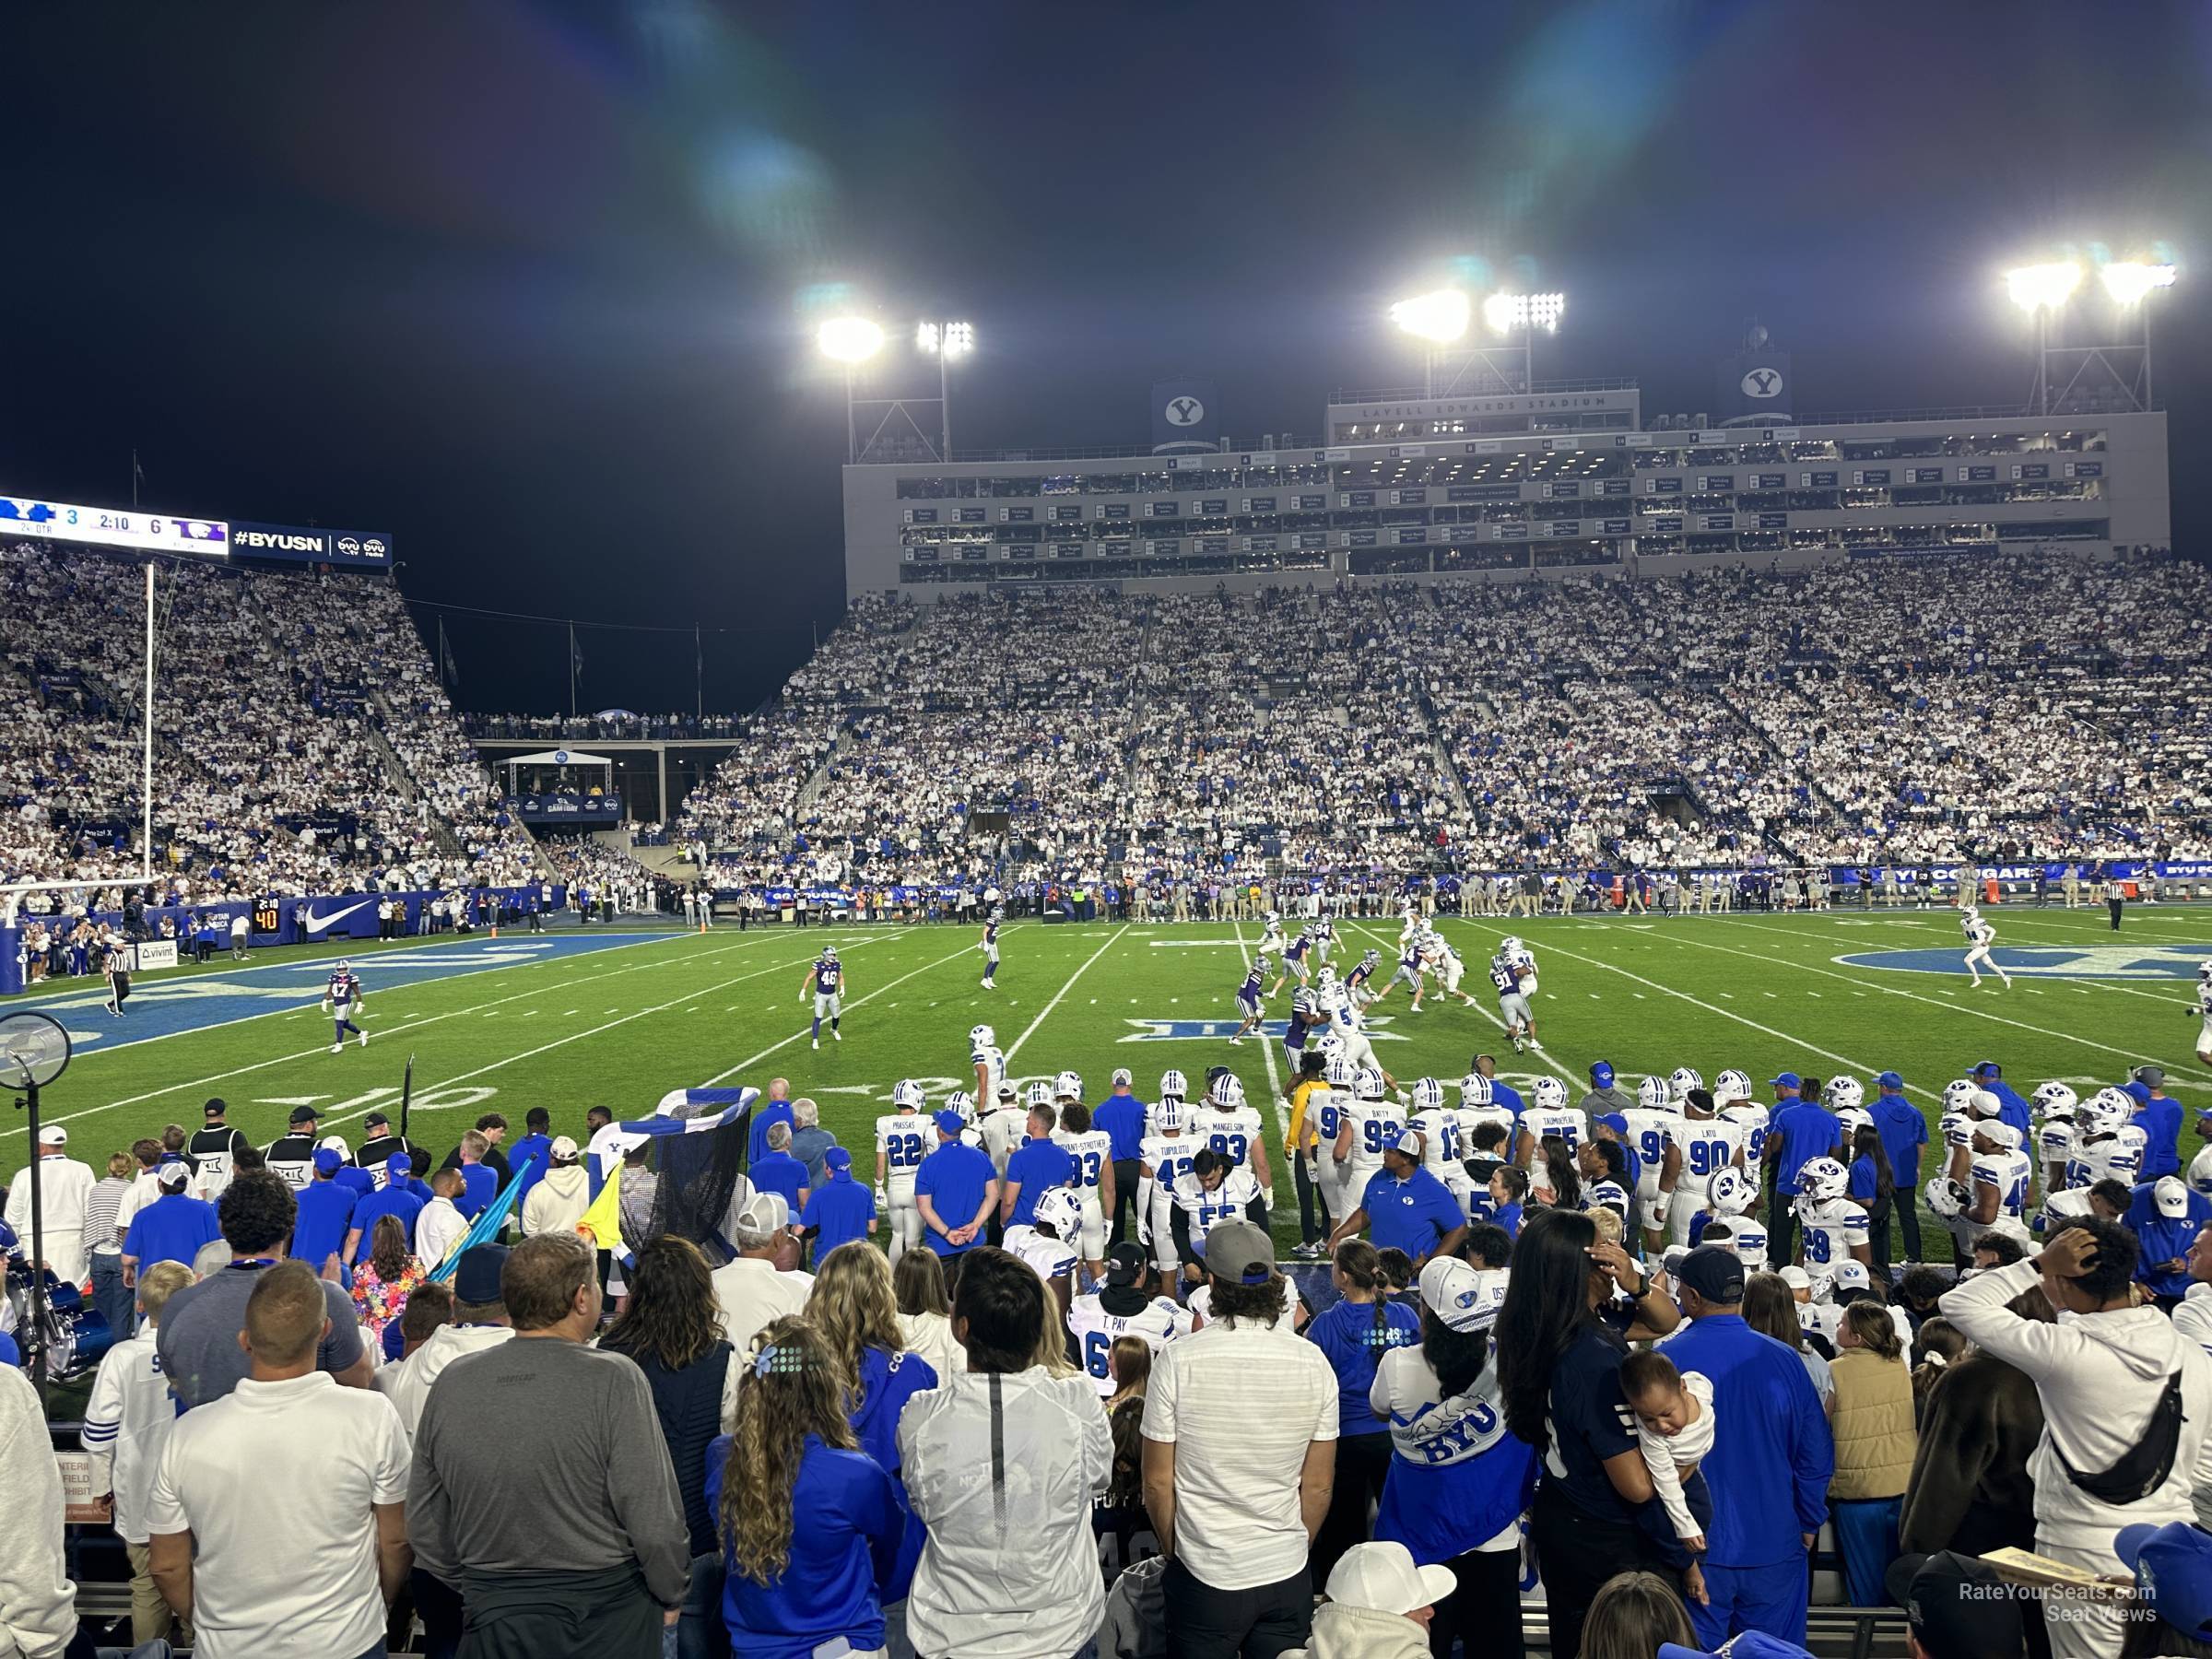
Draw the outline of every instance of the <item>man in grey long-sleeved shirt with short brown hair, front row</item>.
<instances>
[{"instance_id":1,"label":"man in grey long-sleeved shirt with short brown hair, front row","mask_svg":"<svg viewBox=\"0 0 2212 1659\"><path fill-rule=\"evenodd\" d=\"M531 1234L500 1301L513 1338L447 1365L416 1425L416 1564L460 1590L480 1659L657 1655L690 1588L690 1531L646 1374L586 1347L591 1250Z\"/></svg>"}]
</instances>

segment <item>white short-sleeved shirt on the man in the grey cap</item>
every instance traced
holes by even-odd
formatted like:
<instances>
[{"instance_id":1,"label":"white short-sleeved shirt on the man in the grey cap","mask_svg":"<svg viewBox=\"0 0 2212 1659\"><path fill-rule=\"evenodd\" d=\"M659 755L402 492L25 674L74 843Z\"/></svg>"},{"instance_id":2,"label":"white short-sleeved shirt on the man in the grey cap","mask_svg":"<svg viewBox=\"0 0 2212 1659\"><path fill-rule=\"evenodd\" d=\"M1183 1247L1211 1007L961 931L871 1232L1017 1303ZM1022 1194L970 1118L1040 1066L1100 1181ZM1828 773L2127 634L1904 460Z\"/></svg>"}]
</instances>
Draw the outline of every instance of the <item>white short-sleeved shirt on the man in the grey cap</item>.
<instances>
[{"instance_id":1,"label":"white short-sleeved shirt on the man in the grey cap","mask_svg":"<svg viewBox=\"0 0 2212 1659\"><path fill-rule=\"evenodd\" d=\"M1336 1440L1336 1371L1281 1323L1206 1325L1152 1360L1144 1438L1175 1444L1175 1555L1201 1584L1252 1590L1305 1566L1298 1475Z\"/></svg>"}]
</instances>

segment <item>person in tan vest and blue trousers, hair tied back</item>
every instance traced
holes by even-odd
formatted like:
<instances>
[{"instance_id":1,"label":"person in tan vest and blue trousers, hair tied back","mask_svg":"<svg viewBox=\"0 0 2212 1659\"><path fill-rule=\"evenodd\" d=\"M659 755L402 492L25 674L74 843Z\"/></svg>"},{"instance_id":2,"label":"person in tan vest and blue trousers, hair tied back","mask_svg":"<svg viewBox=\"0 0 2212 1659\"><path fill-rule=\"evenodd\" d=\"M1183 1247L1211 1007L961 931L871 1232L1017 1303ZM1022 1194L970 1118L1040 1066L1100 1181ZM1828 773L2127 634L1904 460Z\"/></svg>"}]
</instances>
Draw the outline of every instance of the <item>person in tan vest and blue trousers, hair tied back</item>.
<instances>
[{"instance_id":1,"label":"person in tan vest and blue trousers, hair tied back","mask_svg":"<svg viewBox=\"0 0 2212 1659\"><path fill-rule=\"evenodd\" d=\"M1856 1301L1843 1310L1834 1378L1836 1478L1827 1502L1851 1606L1871 1608L1882 1604L1889 1564L1898 1559L1898 1515L1920 1449L1913 1378L1887 1307Z\"/></svg>"}]
</instances>

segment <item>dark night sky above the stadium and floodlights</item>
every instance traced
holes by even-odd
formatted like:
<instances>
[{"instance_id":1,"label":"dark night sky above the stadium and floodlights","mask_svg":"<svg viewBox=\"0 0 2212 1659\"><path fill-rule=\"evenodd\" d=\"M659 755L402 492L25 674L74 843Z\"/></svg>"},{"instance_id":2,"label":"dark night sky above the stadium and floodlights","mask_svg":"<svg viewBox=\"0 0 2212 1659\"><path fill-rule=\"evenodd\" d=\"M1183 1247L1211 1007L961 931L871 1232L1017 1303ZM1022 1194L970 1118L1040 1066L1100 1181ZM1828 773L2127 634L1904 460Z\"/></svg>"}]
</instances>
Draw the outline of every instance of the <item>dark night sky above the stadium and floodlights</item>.
<instances>
[{"instance_id":1,"label":"dark night sky above the stadium and floodlights","mask_svg":"<svg viewBox=\"0 0 2212 1659\"><path fill-rule=\"evenodd\" d=\"M1312 436L1484 268L1646 411L1752 316L1801 411L2017 403L1995 272L2161 241L2212 529L2205 4L11 4L0 64L0 489L126 504L135 447L146 507L392 533L414 599L719 628L710 710L843 604L841 285L902 389L975 323L956 445L1106 445L1170 374ZM447 628L465 706L566 703L562 628ZM692 706L688 637L580 644L586 708Z\"/></svg>"}]
</instances>

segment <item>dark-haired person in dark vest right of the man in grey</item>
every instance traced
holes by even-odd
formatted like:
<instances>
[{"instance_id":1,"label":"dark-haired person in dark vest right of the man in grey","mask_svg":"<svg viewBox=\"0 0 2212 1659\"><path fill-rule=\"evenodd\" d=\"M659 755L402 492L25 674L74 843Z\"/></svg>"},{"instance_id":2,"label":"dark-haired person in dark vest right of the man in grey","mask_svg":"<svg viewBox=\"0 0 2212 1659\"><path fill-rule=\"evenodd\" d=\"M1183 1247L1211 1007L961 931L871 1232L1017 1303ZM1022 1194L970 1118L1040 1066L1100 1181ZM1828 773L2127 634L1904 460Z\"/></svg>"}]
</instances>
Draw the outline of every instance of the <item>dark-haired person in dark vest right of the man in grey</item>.
<instances>
[{"instance_id":1,"label":"dark-haired person in dark vest right of the man in grey","mask_svg":"<svg viewBox=\"0 0 2212 1659\"><path fill-rule=\"evenodd\" d=\"M723 1559L708 1502L708 1447L737 1409L741 1365L721 1334L714 1281L690 1239L655 1239L637 1252L630 1303L599 1347L628 1354L653 1389L661 1444L684 1500L690 1531L690 1590L677 1610L679 1659L730 1652L721 1619Z\"/></svg>"}]
</instances>

